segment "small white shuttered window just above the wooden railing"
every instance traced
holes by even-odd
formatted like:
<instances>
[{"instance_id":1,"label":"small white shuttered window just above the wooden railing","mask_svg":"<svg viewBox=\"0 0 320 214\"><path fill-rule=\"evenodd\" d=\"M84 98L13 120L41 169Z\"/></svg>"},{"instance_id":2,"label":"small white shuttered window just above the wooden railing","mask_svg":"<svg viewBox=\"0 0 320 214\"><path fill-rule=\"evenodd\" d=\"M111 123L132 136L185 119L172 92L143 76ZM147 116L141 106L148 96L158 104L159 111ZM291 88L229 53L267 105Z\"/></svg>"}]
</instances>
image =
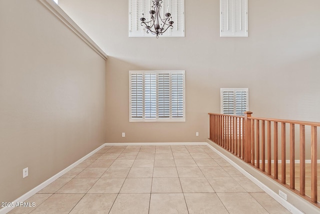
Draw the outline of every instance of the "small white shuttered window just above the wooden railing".
<instances>
[{"instance_id":1,"label":"small white shuttered window just above the wooden railing","mask_svg":"<svg viewBox=\"0 0 320 214\"><path fill-rule=\"evenodd\" d=\"M244 115L248 110L248 88L221 88L221 113Z\"/></svg>"}]
</instances>

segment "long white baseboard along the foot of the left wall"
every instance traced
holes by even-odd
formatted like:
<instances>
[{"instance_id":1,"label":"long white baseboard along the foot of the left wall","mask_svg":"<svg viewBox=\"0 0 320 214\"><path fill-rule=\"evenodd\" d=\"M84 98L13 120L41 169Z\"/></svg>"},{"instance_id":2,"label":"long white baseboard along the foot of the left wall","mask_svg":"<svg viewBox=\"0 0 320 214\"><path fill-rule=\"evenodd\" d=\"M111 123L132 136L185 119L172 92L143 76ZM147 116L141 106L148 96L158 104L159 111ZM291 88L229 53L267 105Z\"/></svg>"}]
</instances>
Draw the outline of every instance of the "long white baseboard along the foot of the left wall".
<instances>
[{"instance_id":1,"label":"long white baseboard along the foot of the left wall","mask_svg":"<svg viewBox=\"0 0 320 214\"><path fill-rule=\"evenodd\" d=\"M54 180L56 180L57 178L62 176L65 172L69 171L71 168L73 168L74 166L76 166L77 164L79 164L80 162L82 162L83 160L85 160L86 158L88 158L89 156L91 156L92 154L94 154L95 152L97 152L98 150L100 150L103 147L104 147L104 144L100 145L98 148L94 149L93 151L91 151L90 153L85 155L84 157L80 158L79 160L75 161L71 165L67 166L66 168L64 168L60 172L58 172L55 175L53 175L52 177L50 177L49 179L47 179L44 182L40 183L39 185L35 186L33 189L31 189L30 191L26 192L22 196L16 198L14 201L12 201L13 204L16 204L17 202L25 201L26 199L28 199L29 197L34 195L36 192L38 192L39 190L41 190L45 186L49 185L51 182L53 182ZM14 207L8 207L8 206L3 207L3 208L0 209L0 214L5 214L5 213L9 212L13 208Z\"/></svg>"}]
</instances>

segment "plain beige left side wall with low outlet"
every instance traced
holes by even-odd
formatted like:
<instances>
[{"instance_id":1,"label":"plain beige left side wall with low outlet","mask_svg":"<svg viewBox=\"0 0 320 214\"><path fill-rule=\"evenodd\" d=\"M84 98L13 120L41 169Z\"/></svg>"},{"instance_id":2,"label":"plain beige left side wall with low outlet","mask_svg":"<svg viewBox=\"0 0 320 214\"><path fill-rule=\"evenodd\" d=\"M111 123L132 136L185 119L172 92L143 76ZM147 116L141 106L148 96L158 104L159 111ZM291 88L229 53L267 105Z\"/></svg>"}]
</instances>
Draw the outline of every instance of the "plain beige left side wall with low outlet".
<instances>
[{"instance_id":1,"label":"plain beige left side wall with low outlet","mask_svg":"<svg viewBox=\"0 0 320 214\"><path fill-rule=\"evenodd\" d=\"M0 201L10 202L105 142L105 60L38 0L0 0L0 29Z\"/></svg>"}]
</instances>

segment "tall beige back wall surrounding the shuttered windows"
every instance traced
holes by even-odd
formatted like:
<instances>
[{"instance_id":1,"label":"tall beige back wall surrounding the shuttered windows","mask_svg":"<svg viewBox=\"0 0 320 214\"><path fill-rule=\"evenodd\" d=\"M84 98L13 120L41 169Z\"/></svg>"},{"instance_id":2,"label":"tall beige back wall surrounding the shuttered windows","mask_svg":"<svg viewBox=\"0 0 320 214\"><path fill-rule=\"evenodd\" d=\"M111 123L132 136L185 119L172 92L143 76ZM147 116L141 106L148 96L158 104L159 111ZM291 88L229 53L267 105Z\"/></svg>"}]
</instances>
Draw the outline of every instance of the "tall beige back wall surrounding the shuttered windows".
<instances>
[{"instance_id":1,"label":"tall beige back wall surrounding the shuttered windows","mask_svg":"<svg viewBox=\"0 0 320 214\"><path fill-rule=\"evenodd\" d=\"M249 0L248 37L219 37L219 0L185 0L185 37L158 39L128 37L128 0L59 5L110 56L107 142L204 141L221 87L248 87L253 116L320 121L319 0ZM128 71L148 69L185 70L185 122L129 122Z\"/></svg>"}]
</instances>

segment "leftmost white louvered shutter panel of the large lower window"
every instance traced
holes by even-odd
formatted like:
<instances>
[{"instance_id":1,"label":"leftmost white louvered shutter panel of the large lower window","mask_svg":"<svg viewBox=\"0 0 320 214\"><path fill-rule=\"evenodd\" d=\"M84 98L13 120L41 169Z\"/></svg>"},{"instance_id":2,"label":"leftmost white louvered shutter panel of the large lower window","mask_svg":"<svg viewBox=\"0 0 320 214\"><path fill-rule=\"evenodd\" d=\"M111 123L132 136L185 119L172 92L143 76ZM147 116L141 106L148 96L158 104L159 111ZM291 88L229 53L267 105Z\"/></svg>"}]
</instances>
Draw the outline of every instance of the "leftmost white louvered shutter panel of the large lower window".
<instances>
[{"instance_id":1,"label":"leftmost white louvered shutter panel of the large lower window","mask_svg":"<svg viewBox=\"0 0 320 214\"><path fill-rule=\"evenodd\" d=\"M130 104L131 104L131 117L142 118L143 113L143 75L142 73L130 74Z\"/></svg>"}]
</instances>

